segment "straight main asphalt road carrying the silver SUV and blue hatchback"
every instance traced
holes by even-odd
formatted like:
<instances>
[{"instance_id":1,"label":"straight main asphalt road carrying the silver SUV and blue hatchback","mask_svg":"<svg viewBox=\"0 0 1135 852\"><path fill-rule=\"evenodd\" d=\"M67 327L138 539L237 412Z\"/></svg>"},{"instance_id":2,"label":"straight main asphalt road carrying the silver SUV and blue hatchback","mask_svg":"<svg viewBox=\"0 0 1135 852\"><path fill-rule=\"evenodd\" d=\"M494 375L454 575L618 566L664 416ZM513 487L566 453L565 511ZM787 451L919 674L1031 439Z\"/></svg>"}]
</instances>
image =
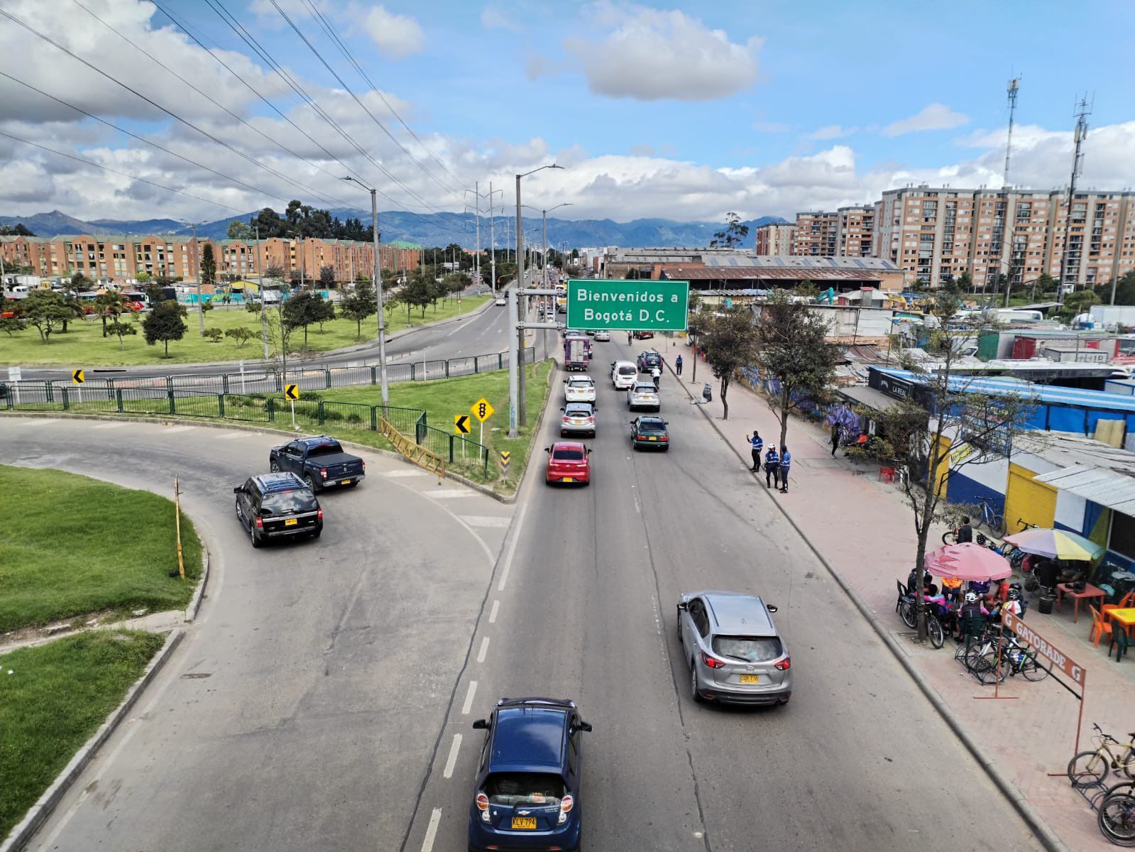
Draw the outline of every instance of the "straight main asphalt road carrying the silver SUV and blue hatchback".
<instances>
[{"instance_id":1,"label":"straight main asphalt road carrying the silver SUV and blue hatchback","mask_svg":"<svg viewBox=\"0 0 1135 852\"><path fill-rule=\"evenodd\" d=\"M630 450L625 395L604 371L630 353L619 339L597 345L592 484L549 488L536 465L521 492L401 849L465 847L484 736L470 724L520 695L573 699L595 726L588 850L1041 849L669 375L673 449ZM556 436L549 418L541 445ZM789 704L692 702L674 604L704 588L780 605Z\"/></svg>"}]
</instances>

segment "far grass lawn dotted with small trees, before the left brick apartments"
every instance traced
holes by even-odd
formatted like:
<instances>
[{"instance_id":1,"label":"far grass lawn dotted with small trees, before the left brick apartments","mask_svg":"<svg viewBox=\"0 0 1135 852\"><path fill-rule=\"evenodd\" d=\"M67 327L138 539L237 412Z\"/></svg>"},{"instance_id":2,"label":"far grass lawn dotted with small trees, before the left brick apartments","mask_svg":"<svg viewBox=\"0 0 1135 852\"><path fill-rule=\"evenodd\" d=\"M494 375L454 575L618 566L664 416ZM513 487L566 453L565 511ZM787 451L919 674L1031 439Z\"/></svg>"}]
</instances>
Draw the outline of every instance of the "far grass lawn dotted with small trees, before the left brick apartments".
<instances>
[{"instance_id":1,"label":"far grass lawn dotted with small trees, before the left brick apartments","mask_svg":"<svg viewBox=\"0 0 1135 852\"><path fill-rule=\"evenodd\" d=\"M461 300L462 315L480 307L489 296L470 296ZM454 299L439 303L437 310L426 308L412 311L412 324L421 325L435 319L447 319L459 314L457 301ZM163 358L165 348L161 343L146 345L142 334L141 317L131 320L137 326L137 334L123 337L119 348L117 337L102 336L102 320L99 318L81 319L72 323L67 334L56 332L51 343L43 343L40 333L32 327L8 336L0 334L0 364L20 365L25 367L92 367L92 366L129 366L149 364L202 364L210 361L255 360L263 356L263 343L260 341L260 315L249 314L244 308L215 308L205 314L205 328L220 328L222 332L237 326L251 329L257 336L237 348L230 337L219 343L210 343L200 333L200 319L196 310L191 310L185 317L187 331L185 337L171 341L169 358ZM377 319L370 317L362 324L362 339L356 336L355 323L347 319L333 319L319 326L308 328L308 348L313 351L342 349L365 342L376 335ZM387 314L387 333L406 327L406 311L392 308ZM303 329L296 329L292 335L292 346L303 346Z\"/></svg>"}]
</instances>

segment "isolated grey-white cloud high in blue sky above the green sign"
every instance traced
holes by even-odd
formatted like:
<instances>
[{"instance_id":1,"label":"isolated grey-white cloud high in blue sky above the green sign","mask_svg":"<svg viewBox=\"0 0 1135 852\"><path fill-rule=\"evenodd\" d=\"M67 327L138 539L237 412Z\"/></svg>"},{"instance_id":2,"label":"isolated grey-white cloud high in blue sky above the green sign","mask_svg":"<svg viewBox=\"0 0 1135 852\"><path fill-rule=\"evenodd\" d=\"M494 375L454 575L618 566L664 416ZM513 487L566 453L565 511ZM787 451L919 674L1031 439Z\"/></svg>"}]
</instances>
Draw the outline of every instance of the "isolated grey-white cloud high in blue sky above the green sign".
<instances>
[{"instance_id":1,"label":"isolated grey-white cloud high in blue sky above the green sign","mask_svg":"<svg viewBox=\"0 0 1135 852\"><path fill-rule=\"evenodd\" d=\"M758 37L745 44L682 11L600 2L585 19L609 30L599 41L570 37L588 87L612 98L713 100L757 80ZM612 28L613 27L613 28Z\"/></svg>"}]
</instances>

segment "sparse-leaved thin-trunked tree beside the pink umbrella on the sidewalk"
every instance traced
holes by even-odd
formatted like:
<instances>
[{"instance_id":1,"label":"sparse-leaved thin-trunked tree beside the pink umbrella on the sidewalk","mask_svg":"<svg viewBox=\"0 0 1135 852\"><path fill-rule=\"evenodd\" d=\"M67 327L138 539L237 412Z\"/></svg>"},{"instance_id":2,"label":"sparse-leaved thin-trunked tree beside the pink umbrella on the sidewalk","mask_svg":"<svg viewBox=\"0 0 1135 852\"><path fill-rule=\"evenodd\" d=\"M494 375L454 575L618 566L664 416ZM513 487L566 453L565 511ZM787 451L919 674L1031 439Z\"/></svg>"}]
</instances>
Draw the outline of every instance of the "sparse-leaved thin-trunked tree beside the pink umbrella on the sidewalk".
<instances>
[{"instance_id":1,"label":"sparse-leaved thin-trunked tree beside the pink umbrella on the sidewalk","mask_svg":"<svg viewBox=\"0 0 1135 852\"><path fill-rule=\"evenodd\" d=\"M944 500L949 478L967 465L1007 456L1033 407L1026 396L977 393L972 387L981 381L980 374L953 373L959 343L982 331L948 326L961 307L957 295L939 292L922 304L932 326L925 349L936 360L925 365L903 356L902 367L916 374L913 392L873 415L894 466L907 473L899 477L899 488L910 506L918 538L911 592L919 604L931 527L956 515ZM920 610L919 605L918 635L925 638L926 618Z\"/></svg>"}]
</instances>

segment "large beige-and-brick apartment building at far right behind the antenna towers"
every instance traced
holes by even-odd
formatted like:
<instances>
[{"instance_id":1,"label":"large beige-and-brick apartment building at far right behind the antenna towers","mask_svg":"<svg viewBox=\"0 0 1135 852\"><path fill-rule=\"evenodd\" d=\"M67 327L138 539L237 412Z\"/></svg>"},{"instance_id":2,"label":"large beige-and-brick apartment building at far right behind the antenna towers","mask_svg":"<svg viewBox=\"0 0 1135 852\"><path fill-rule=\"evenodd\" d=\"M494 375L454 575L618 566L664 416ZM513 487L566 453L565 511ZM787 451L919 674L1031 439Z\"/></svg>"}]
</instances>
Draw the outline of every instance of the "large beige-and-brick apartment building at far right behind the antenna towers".
<instances>
[{"instance_id":1,"label":"large beige-and-brick apartment building at far right behind the antenna towers","mask_svg":"<svg viewBox=\"0 0 1135 852\"><path fill-rule=\"evenodd\" d=\"M1135 269L1135 192L889 190L875 204L876 257L902 268L908 285L939 286L965 272L978 290L1042 273L1059 278L1068 239L1069 287Z\"/></svg>"}]
</instances>

